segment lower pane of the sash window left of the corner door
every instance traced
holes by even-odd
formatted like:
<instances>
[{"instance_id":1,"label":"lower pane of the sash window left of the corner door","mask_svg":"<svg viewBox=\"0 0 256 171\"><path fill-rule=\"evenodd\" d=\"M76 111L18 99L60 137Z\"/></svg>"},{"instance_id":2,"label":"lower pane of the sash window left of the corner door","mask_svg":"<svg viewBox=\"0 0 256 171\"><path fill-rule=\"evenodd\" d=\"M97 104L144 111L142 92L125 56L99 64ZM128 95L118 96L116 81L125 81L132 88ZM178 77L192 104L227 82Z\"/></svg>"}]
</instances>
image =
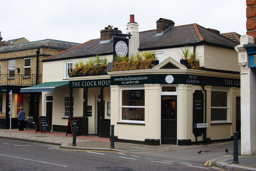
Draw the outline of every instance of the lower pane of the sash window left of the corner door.
<instances>
[{"instance_id":1,"label":"lower pane of the sash window left of the corner door","mask_svg":"<svg viewBox=\"0 0 256 171\"><path fill-rule=\"evenodd\" d=\"M145 109L144 108L122 108L122 120L134 120L144 121L145 120Z\"/></svg>"}]
</instances>

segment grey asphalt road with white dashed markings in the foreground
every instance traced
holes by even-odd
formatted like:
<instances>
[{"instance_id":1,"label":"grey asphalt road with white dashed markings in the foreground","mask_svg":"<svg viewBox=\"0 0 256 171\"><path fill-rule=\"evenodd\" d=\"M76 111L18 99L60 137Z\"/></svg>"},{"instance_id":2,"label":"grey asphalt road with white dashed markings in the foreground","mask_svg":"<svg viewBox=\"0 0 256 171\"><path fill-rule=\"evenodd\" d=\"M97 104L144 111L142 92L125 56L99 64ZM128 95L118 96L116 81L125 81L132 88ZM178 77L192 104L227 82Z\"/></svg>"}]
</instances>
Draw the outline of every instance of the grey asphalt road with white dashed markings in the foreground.
<instances>
[{"instance_id":1,"label":"grey asphalt road with white dashed markings in the foreground","mask_svg":"<svg viewBox=\"0 0 256 171\"><path fill-rule=\"evenodd\" d=\"M179 150L176 149L176 151ZM197 156L201 158L203 155L195 152L195 157L191 160L175 156L173 152L166 150L143 153L85 151L59 149L58 146L42 143L0 139L0 170L2 171L223 170L204 166L204 160L196 159Z\"/></svg>"}]
</instances>

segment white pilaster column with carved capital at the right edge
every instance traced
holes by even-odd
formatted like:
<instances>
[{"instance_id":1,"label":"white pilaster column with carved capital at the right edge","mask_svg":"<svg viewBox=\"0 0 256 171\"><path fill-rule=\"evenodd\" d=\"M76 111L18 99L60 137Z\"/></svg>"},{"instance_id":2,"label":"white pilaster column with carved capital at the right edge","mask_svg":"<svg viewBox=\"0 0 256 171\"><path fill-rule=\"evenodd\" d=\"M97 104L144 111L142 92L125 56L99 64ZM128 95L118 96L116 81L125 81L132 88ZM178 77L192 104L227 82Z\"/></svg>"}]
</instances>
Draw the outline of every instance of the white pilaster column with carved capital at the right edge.
<instances>
[{"instance_id":1,"label":"white pilaster column with carved capital at the right edge","mask_svg":"<svg viewBox=\"0 0 256 171\"><path fill-rule=\"evenodd\" d=\"M240 38L241 44L236 46L238 52L238 62L241 68L241 154L249 155L256 151L256 97L255 83L256 77L251 74L248 68L248 54L244 44L253 44L253 37L242 35ZM252 89L253 88L253 89ZM254 95L253 95L254 94Z\"/></svg>"}]
</instances>

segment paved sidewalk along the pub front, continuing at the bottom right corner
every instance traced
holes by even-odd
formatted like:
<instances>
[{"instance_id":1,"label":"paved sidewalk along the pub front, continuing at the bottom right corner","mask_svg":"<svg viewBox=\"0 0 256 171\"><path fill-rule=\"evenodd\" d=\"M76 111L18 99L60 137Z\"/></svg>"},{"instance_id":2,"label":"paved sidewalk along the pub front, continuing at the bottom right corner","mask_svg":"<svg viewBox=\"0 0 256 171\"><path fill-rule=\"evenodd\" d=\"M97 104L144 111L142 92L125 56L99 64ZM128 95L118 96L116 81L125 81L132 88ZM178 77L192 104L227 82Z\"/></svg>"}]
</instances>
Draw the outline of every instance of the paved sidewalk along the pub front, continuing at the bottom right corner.
<instances>
[{"instance_id":1,"label":"paved sidewalk along the pub front, continuing at the bottom right corner","mask_svg":"<svg viewBox=\"0 0 256 171\"><path fill-rule=\"evenodd\" d=\"M37 132L35 130L18 131L12 129L11 136L9 129L0 129L0 138L14 139L20 141L30 141L38 143L47 143L52 145L59 145L60 148L68 149L84 149L84 150L106 150L106 151L120 151L120 152L138 152L138 151L152 151L162 149L179 149L181 146L177 145L140 145L132 143L114 143L114 149L110 149L109 138L99 138L97 136L77 136L76 146L72 146L72 135L64 132ZM208 146L209 148L212 146ZM233 149L230 149L230 151ZM224 160L216 161L215 165L221 168L236 170L236 171L256 171L256 156L241 156L238 157L238 164L232 163L233 157Z\"/></svg>"}]
</instances>

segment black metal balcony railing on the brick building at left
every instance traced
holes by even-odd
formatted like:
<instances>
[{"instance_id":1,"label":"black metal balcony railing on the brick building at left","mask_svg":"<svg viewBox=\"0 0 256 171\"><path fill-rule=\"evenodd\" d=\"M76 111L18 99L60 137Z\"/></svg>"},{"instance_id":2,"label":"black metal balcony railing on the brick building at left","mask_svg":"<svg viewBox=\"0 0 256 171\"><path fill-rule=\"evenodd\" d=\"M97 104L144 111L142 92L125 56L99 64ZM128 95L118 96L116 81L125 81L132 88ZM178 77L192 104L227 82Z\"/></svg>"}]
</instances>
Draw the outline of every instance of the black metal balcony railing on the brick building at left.
<instances>
[{"instance_id":1,"label":"black metal balcony railing on the brick building at left","mask_svg":"<svg viewBox=\"0 0 256 171\"><path fill-rule=\"evenodd\" d=\"M36 85L41 82L42 75L0 74L0 85Z\"/></svg>"}]
</instances>

